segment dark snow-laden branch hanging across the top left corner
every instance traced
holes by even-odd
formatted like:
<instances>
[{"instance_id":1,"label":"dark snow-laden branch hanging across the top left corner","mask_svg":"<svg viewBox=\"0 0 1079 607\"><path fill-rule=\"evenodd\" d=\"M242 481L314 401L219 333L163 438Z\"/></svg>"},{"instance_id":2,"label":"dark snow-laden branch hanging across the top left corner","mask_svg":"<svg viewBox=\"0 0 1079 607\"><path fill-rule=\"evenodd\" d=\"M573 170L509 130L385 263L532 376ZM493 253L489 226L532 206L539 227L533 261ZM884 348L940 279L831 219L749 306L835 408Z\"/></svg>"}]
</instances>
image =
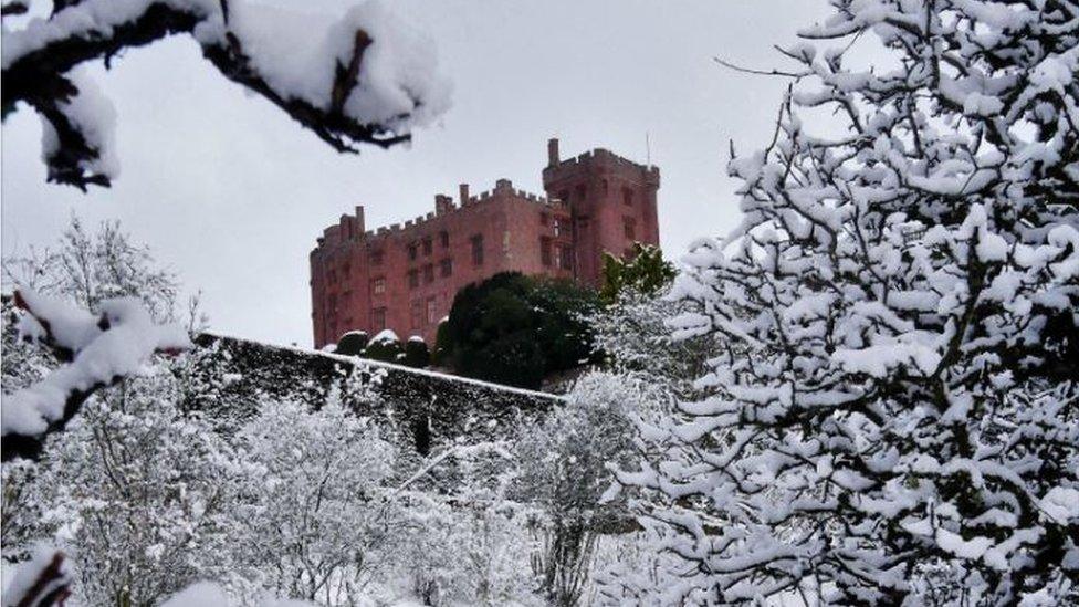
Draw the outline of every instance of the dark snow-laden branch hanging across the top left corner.
<instances>
[{"instance_id":1,"label":"dark snow-laden branch hanging across the top left corner","mask_svg":"<svg viewBox=\"0 0 1079 607\"><path fill-rule=\"evenodd\" d=\"M407 140L448 106L430 41L376 1L323 19L234 0L12 0L3 18L3 116L33 107L49 180L83 190L119 164L116 112L81 66L167 35L190 35L221 75L338 151Z\"/></svg>"}]
</instances>

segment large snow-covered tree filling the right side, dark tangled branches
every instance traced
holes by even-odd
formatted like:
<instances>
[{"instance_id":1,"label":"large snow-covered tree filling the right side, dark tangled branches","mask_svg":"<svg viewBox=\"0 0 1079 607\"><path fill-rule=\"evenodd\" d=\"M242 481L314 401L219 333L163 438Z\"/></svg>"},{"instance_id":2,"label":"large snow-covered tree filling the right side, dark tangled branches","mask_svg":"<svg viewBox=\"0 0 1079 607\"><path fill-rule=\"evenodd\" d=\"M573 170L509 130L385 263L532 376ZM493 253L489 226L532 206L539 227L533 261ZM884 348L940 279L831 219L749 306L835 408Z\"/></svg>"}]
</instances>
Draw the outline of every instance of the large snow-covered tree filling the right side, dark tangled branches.
<instances>
[{"instance_id":1,"label":"large snow-covered tree filling the right side, dark tangled branches","mask_svg":"<svg viewBox=\"0 0 1079 607\"><path fill-rule=\"evenodd\" d=\"M1079 8L831 3L675 285L737 347L620 475L682 563L653 599L1075 603Z\"/></svg>"}]
</instances>

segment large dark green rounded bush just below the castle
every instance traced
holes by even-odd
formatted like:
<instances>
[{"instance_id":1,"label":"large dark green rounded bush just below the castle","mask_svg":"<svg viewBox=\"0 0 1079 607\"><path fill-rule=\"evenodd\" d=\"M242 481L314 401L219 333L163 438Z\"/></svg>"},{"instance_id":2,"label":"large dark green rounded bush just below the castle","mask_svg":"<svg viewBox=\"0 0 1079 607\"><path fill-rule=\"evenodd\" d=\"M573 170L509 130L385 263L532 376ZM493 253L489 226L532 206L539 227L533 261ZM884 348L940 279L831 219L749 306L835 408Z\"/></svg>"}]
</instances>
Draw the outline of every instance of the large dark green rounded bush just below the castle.
<instances>
[{"instance_id":1,"label":"large dark green rounded bush just below the castle","mask_svg":"<svg viewBox=\"0 0 1079 607\"><path fill-rule=\"evenodd\" d=\"M585 320L596 295L568 281L496 274L458 292L438 348L457 373L538 388L594 358Z\"/></svg>"}]
</instances>

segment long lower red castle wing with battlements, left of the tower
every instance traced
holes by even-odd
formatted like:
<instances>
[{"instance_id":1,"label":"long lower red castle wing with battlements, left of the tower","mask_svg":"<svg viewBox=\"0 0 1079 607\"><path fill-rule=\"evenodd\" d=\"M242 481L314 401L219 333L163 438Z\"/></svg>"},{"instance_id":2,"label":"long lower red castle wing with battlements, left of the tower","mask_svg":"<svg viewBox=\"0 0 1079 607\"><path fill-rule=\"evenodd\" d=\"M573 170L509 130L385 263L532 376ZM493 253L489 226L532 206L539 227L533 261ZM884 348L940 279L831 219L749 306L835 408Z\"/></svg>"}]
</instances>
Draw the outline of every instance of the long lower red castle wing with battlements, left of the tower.
<instances>
[{"instance_id":1,"label":"long lower red castle wing with battlements, left of the tower","mask_svg":"<svg viewBox=\"0 0 1079 607\"><path fill-rule=\"evenodd\" d=\"M324 232L311 254L316 347L348 331L374 335L384 328L433 344L454 295L470 283L509 271L573 278L569 266L558 268L555 253L543 263L542 239L551 240L553 251L572 245L564 229L561 237L554 233L555 221L569 223L563 206L500 180L460 207L439 197L437 209L356 237L349 237L347 218Z\"/></svg>"}]
</instances>

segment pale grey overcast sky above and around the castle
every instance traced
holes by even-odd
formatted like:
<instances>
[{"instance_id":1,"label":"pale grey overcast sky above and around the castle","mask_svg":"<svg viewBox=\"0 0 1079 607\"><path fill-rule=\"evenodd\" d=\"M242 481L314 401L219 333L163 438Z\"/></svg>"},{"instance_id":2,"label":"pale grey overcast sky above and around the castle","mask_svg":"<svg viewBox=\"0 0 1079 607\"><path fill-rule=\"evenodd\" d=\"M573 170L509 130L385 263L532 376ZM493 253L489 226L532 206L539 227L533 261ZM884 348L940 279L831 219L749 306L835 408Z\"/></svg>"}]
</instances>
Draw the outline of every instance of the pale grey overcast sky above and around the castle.
<instances>
[{"instance_id":1,"label":"pale grey overcast sky above and around the castle","mask_svg":"<svg viewBox=\"0 0 1079 607\"><path fill-rule=\"evenodd\" d=\"M286 2L279 2L286 3ZM343 0L295 0L339 10ZM495 179L542 193L546 140L662 171L660 239L678 257L738 221L727 142L762 147L784 82L734 73L715 55L783 65L772 49L818 21L819 0L427 0L391 2L429 32L453 107L409 147L338 155L248 95L178 38L95 66L119 115L122 174L83 195L45 184L41 125L23 107L2 129L2 251L53 242L72 212L119 219L189 290L216 331L311 345L307 254L355 205L368 228L433 210L457 185Z\"/></svg>"}]
</instances>

